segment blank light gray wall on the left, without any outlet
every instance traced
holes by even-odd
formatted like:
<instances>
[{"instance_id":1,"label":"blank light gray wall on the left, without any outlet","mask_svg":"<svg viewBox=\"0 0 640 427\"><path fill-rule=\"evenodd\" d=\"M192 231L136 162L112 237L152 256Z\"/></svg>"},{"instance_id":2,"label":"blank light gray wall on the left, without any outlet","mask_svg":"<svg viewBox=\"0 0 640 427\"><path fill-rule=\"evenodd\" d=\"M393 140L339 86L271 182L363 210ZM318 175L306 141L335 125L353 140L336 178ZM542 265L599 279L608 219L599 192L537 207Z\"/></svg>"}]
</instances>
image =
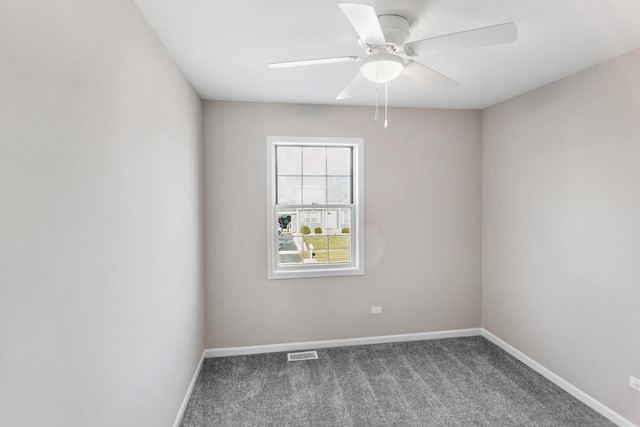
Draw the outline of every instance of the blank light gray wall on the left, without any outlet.
<instances>
[{"instance_id":1,"label":"blank light gray wall on the left, without any outlet","mask_svg":"<svg viewBox=\"0 0 640 427\"><path fill-rule=\"evenodd\" d=\"M203 349L201 129L131 1L0 2L0 425L171 425Z\"/></svg>"}]
</instances>

